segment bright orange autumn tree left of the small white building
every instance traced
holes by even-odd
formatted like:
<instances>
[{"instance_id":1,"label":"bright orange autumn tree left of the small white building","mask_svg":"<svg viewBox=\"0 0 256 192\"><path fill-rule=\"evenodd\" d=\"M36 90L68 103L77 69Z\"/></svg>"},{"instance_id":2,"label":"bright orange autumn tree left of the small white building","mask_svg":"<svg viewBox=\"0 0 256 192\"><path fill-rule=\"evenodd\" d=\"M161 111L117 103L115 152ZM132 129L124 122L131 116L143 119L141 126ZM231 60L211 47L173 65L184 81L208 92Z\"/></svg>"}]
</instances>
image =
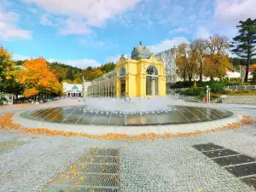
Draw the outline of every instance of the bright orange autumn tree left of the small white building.
<instances>
[{"instance_id":1,"label":"bright orange autumn tree left of the small white building","mask_svg":"<svg viewBox=\"0 0 256 192\"><path fill-rule=\"evenodd\" d=\"M23 64L25 69L15 71L15 81L23 85L26 90L23 95L26 97L37 96L38 94L62 95L62 86L55 74L50 71L47 61L43 57L26 60Z\"/></svg>"}]
</instances>

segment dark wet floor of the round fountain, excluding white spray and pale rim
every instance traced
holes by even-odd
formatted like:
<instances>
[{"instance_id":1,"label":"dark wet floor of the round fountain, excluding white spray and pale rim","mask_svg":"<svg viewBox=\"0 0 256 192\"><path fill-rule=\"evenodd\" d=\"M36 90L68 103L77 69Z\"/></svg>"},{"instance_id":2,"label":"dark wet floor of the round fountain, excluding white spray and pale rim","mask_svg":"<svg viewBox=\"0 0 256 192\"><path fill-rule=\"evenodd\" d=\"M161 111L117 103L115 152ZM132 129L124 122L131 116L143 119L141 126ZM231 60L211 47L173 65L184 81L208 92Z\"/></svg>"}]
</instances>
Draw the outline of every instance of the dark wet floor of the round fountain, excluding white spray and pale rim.
<instances>
[{"instance_id":1,"label":"dark wet floor of the round fountain, excluding white spray and pale rim","mask_svg":"<svg viewBox=\"0 0 256 192\"><path fill-rule=\"evenodd\" d=\"M223 109L169 106L155 111L96 111L87 106L44 108L21 113L25 119L67 125L177 125L224 119L233 113Z\"/></svg>"}]
</instances>

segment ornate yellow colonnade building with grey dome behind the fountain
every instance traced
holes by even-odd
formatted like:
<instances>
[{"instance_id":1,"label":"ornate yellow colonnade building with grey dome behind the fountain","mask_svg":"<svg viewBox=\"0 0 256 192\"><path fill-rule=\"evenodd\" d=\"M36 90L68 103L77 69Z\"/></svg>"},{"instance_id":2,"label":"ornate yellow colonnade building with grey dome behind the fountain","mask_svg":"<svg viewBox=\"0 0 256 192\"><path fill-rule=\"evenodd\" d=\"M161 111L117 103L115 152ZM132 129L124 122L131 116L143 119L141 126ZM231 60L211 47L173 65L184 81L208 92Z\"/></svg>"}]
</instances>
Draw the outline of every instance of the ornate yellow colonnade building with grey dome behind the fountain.
<instances>
[{"instance_id":1,"label":"ornate yellow colonnade building with grey dome behind the fountain","mask_svg":"<svg viewBox=\"0 0 256 192\"><path fill-rule=\"evenodd\" d=\"M116 69L94 80L87 96L165 96L165 65L142 44L133 49L131 59L123 55Z\"/></svg>"}]
</instances>

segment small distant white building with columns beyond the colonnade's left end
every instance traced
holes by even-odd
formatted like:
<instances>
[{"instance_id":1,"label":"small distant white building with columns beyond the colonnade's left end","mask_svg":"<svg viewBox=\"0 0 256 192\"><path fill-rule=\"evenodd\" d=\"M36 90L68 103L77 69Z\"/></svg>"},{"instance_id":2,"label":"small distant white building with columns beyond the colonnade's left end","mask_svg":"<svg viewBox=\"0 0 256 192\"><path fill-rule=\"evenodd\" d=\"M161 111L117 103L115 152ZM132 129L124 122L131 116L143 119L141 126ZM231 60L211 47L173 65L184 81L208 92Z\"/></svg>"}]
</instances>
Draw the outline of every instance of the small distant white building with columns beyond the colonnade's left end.
<instances>
[{"instance_id":1,"label":"small distant white building with columns beyond the colonnade's left end","mask_svg":"<svg viewBox=\"0 0 256 192\"><path fill-rule=\"evenodd\" d=\"M81 97L83 87L82 84L68 84L67 82L64 82L63 91L66 94L66 96Z\"/></svg>"}]
</instances>

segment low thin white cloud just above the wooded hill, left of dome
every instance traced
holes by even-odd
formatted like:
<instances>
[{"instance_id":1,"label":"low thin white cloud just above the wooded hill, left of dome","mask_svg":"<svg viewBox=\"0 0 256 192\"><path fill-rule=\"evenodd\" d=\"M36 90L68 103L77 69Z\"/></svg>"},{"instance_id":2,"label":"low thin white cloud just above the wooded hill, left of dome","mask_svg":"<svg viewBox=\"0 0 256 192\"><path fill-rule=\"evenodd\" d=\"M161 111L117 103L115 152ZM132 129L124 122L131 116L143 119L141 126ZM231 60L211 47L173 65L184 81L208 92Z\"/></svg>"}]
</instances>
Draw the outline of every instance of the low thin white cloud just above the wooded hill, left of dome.
<instances>
[{"instance_id":1,"label":"low thin white cloud just above the wooded hill, left of dome","mask_svg":"<svg viewBox=\"0 0 256 192\"><path fill-rule=\"evenodd\" d=\"M102 64L96 60L90 60L87 58L84 59L78 59L78 60L55 60L55 59L48 59L49 62L61 62L73 67L79 67L82 69L85 69L87 67L99 67Z\"/></svg>"}]
</instances>

